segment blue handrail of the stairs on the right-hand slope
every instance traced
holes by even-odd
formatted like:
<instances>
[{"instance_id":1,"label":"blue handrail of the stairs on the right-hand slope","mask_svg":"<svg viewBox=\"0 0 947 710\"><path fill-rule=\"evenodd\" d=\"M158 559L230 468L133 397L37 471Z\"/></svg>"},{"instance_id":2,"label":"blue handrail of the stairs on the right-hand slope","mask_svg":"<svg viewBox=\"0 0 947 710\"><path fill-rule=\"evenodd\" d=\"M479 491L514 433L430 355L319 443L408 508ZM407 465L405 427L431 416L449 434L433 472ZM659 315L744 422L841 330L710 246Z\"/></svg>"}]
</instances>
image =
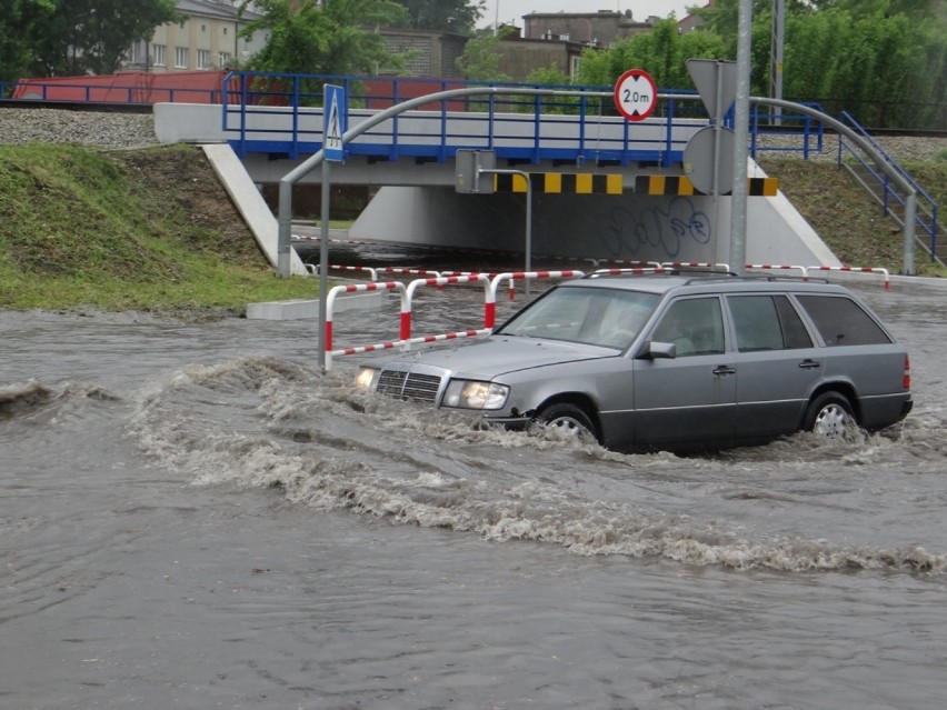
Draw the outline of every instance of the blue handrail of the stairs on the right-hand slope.
<instances>
[{"instance_id":1,"label":"blue handrail of the stairs on the right-hand slope","mask_svg":"<svg viewBox=\"0 0 947 710\"><path fill-rule=\"evenodd\" d=\"M855 130L863 139L914 188L917 193L915 213L915 239L930 253L930 261L937 258L937 216L939 208L930 194L905 170L878 142L871 138L858 121L847 111L841 112L840 120ZM904 227L905 196L897 190L891 180L878 171L875 164L853 143L843 136L838 140L838 164L845 167L881 204L885 217L891 217ZM918 237L918 231L924 237Z\"/></svg>"}]
</instances>

